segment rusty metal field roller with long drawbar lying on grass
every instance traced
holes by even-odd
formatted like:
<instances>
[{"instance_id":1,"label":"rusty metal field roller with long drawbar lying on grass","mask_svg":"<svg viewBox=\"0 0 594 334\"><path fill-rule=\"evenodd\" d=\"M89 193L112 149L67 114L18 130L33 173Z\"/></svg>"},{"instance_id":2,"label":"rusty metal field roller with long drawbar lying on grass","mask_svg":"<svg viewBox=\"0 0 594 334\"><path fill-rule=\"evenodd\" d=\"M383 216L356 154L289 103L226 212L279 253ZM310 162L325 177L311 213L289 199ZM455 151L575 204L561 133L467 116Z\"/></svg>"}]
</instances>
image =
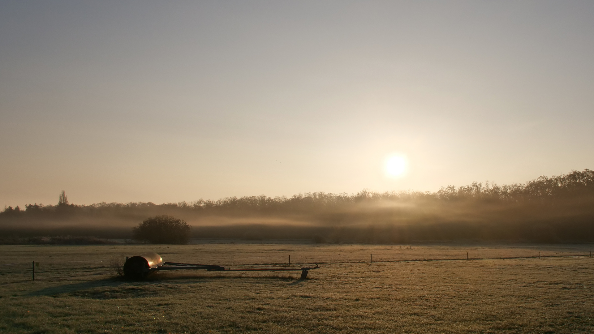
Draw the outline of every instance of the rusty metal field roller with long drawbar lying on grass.
<instances>
[{"instance_id":1,"label":"rusty metal field roller with long drawbar lying on grass","mask_svg":"<svg viewBox=\"0 0 594 334\"><path fill-rule=\"evenodd\" d=\"M154 252L144 253L137 256L128 257L124 263L124 277L134 281L141 280L149 276L151 273L159 272L161 270L179 270L179 269L204 269L208 271L217 272L287 272L301 270L301 277L299 279L307 278L309 270L318 269L315 267L302 268L250 268L250 269L231 269L223 266L213 264L194 264L194 263L178 263L165 262L162 257Z\"/></svg>"}]
</instances>

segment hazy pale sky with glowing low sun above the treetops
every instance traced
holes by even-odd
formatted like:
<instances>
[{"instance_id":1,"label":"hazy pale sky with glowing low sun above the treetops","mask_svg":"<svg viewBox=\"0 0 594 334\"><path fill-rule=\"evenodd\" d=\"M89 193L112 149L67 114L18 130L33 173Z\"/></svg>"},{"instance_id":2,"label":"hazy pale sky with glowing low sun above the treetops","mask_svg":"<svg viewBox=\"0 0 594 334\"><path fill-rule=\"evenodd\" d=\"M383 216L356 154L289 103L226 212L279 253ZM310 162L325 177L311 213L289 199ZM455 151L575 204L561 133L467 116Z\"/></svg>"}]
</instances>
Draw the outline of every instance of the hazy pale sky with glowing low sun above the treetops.
<instances>
[{"instance_id":1,"label":"hazy pale sky with glowing low sun above the treetops","mask_svg":"<svg viewBox=\"0 0 594 334\"><path fill-rule=\"evenodd\" d=\"M0 207L594 169L592 59L592 1L3 0Z\"/></svg>"}]
</instances>

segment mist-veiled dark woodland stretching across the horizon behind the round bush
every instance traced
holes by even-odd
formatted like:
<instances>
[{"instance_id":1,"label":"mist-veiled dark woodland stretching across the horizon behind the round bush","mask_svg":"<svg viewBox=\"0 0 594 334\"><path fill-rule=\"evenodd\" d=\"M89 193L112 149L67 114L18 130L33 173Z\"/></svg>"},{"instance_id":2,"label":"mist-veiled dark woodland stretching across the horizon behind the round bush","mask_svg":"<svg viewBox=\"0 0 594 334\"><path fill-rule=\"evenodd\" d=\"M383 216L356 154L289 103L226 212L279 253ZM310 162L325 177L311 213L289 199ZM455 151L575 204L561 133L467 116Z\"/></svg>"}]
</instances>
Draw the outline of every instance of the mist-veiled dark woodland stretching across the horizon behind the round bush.
<instances>
[{"instance_id":1,"label":"mist-veiled dark woodland stretching across the horizon behind the round bush","mask_svg":"<svg viewBox=\"0 0 594 334\"><path fill-rule=\"evenodd\" d=\"M594 172L539 177L525 184L447 186L429 193L307 193L181 203L5 207L5 235L130 238L132 226L171 215L196 238L302 239L314 242L594 241Z\"/></svg>"}]
</instances>

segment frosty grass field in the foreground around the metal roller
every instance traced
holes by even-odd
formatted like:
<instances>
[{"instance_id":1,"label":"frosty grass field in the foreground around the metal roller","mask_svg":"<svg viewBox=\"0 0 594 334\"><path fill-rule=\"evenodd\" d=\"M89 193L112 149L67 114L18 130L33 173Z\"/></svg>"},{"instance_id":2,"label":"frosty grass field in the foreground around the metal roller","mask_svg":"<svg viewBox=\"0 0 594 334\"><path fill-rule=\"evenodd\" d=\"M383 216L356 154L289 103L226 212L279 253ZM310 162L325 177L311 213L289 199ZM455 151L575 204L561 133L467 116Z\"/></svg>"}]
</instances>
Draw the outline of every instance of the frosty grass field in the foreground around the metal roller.
<instances>
[{"instance_id":1,"label":"frosty grass field in the foreground around the metal roller","mask_svg":"<svg viewBox=\"0 0 594 334\"><path fill-rule=\"evenodd\" d=\"M594 258L586 255L589 249L590 245L0 246L0 331L592 333ZM110 260L144 251L157 251L166 261L233 267L280 265L290 254L292 266L320 263L321 268L311 270L305 281L295 279L299 272L295 278L286 273L188 270L157 273L145 282L113 277ZM34 282L33 260L40 262Z\"/></svg>"}]
</instances>

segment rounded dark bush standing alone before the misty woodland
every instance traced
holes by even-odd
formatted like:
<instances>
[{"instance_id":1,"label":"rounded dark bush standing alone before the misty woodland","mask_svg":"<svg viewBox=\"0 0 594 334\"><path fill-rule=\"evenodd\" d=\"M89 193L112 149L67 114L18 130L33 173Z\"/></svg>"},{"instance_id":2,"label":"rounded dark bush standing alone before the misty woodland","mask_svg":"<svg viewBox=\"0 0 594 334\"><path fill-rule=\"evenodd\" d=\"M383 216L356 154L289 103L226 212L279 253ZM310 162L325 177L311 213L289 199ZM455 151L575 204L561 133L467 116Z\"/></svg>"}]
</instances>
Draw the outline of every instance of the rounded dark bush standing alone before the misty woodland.
<instances>
[{"instance_id":1,"label":"rounded dark bush standing alone before the misty woodland","mask_svg":"<svg viewBox=\"0 0 594 334\"><path fill-rule=\"evenodd\" d=\"M132 229L134 239L151 244L187 244L191 227L172 216L154 216Z\"/></svg>"}]
</instances>

